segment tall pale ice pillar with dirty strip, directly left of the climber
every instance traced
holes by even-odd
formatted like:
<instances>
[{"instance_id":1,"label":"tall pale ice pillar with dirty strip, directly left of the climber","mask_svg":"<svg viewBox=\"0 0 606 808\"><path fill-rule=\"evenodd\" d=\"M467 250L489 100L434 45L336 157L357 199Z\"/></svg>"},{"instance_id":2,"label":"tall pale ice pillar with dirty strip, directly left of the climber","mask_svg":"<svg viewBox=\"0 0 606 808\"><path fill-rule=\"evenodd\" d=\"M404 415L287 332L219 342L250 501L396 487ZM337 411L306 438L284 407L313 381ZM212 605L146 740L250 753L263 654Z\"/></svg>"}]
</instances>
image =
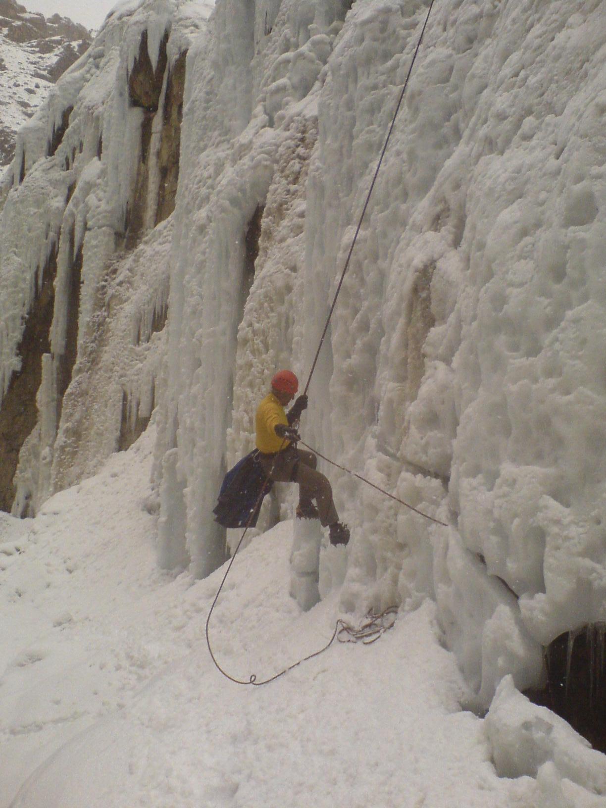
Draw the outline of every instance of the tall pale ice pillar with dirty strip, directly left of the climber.
<instances>
[{"instance_id":1,"label":"tall pale ice pillar with dirty strip, directly left of the climber","mask_svg":"<svg viewBox=\"0 0 606 808\"><path fill-rule=\"evenodd\" d=\"M255 400L292 359L317 136L314 99L306 100L345 11L341 3L219 2L208 40L190 50L182 155L195 170L183 175L175 210L158 477L161 503L179 492L179 507L171 499L162 512L161 559L181 541L177 555L187 553L196 574L225 558L212 513L222 475L250 448ZM311 38L309 25L318 31Z\"/></svg>"}]
</instances>

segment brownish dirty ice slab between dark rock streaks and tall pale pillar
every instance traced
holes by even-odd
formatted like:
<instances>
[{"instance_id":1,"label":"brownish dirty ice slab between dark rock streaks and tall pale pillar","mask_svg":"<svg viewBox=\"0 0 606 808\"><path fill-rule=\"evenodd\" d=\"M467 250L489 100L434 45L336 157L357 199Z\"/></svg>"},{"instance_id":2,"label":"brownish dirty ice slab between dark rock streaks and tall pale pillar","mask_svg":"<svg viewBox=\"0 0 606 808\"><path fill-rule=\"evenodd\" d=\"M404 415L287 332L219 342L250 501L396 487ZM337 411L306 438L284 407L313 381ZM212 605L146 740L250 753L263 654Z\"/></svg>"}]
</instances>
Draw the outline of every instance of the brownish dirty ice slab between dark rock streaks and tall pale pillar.
<instances>
[{"instance_id":1,"label":"brownish dirty ice slab between dark rock streaks and tall pale pillar","mask_svg":"<svg viewBox=\"0 0 606 808\"><path fill-rule=\"evenodd\" d=\"M95 314L82 333L78 377L66 393L55 445L55 487L91 473L99 457L127 448L149 423L163 389L158 379L166 344L171 235L169 220L128 256L99 266L103 280ZM90 256L90 271L93 260ZM82 407L82 396L93 402L90 408Z\"/></svg>"}]
</instances>

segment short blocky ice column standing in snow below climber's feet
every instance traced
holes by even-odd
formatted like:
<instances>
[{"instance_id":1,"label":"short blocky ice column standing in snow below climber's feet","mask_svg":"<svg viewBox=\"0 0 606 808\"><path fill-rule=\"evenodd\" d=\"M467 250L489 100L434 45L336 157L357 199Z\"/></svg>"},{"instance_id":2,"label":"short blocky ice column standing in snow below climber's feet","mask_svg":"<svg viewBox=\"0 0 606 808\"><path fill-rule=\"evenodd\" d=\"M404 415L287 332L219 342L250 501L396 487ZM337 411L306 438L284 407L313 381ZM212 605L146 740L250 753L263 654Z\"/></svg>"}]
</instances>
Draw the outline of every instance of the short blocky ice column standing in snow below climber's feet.
<instances>
[{"instance_id":1,"label":"short blocky ice column standing in snow below climber's feet","mask_svg":"<svg viewBox=\"0 0 606 808\"><path fill-rule=\"evenodd\" d=\"M322 528L317 519L295 519L290 554L290 596L304 612L320 600L318 589Z\"/></svg>"}]
</instances>

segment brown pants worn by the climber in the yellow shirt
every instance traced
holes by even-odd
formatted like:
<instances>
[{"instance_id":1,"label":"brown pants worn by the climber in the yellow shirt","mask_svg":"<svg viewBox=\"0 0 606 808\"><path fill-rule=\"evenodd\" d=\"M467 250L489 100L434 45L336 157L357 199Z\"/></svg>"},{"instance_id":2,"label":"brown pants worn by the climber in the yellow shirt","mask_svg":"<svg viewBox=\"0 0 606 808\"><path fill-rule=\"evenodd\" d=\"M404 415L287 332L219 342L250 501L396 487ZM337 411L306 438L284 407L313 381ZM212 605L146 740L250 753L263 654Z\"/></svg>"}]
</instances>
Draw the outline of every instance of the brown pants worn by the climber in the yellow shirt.
<instances>
[{"instance_id":1,"label":"brown pants worn by the climber in the yellow shirt","mask_svg":"<svg viewBox=\"0 0 606 808\"><path fill-rule=\"evenodd\" d=\"M316 471L318 458L312 452L304 452L291 445L275 455L260 454L259 459L263 471L274 482L298 482L301 505L316 500L318 516L324 527L339 521L330 482Z\"/></svg>"}]
</instances>

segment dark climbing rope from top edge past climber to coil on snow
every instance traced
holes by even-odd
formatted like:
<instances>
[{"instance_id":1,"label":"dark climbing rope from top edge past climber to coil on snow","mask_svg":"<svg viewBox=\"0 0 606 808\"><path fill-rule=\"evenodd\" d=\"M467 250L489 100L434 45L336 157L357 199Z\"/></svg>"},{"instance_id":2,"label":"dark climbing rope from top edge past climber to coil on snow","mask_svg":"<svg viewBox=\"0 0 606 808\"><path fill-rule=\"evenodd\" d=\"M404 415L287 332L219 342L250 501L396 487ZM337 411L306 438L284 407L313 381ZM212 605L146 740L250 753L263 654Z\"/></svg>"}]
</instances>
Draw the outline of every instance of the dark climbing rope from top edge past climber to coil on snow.
<instances>
[{"instance_id":1,"label":"dark climbing rope from top edge past climber to coil on snow","mask_svg":"<svg viewBox=\"0 0 606 808\"><path fill-rule=\"evenodd\" d=\"M364 201L364 207L362 208L362 213L360 214L360 219L359 219L358 224L356 226L356 232L355 232L354 237L353 237L353 239L351 241L351 246L349 248L349 252L347 253L347 259L345 260L345 264L343 266L343 271L342 271L341 276L339 278L339 284L337 285L337 289L336 289L336 292L335 292L335 297L333 298L332 305L330 305L330 311L328 313L328 317L326 318L326 323L324 325L324 330L322 331L322 336L320 337L320 341L318 343L318 350L316 351L316 354L314 356L314 361L313 361L313 363L311 365L311 369L309 371L309 377L307 378L307 383L305 384L305 390L304 390L305 394L307 393L307 391L309 389L309 384L311 382L312 376L314 375L314 370L316 369L316 364L318 364L318 356L320 356L320 351L322 350L322 345L324 343L324 339L326 338L326 332L328 331L328 326L330 325L330 319L332 318L333 312L335 311L335 306L337 305L337 299L339 298L339 293L341 292L341 287L343 286L343 280L345 279L347 269L349 268L349 264L350 264L350 261L351 261L351 255L353 253L354 247L356 246L356 241L358 239L358 235L360 234L360 229L362 227L362 221L364 220L364 215L366 213L366 209L368 208L368 203L370 202L370 197L372 196L372 191L373 191L373 189L375 187L375 183L377 182L377 177L379 175L379 170L381 170L381 164L383 162L383 158L385 157L385 152L387 151L387 146L389 145L389 139L391 138L391 133L393 132L393 127L395 125L396 118L398 117L398 112L400 112L400 107L402 106L402 101L404 99L404 94L406 93L406 87L408 86L408 82L410 80L410 74L412 74L412 69L415 66L415 61L416 61L417 55L419 53L419 49L421 48L421 43L423 41L423 35L425 34L425 29L427 28L427 23L429 22L429 16L431 15L431 9L434 6L434 2L435 2L435 0L431 0L431 2L429 4L429 8L427 9L427 15L425 17L425 22L423 23L423 28L422 28L421 34L419 36L419 41L417 42L417 46L415 48L415 53L413 54L412 60L410 61L410 66L408 68L408 73L406 74L406 79L405 79L404 85L402 86L402 92L400 93L400 97L398 98L398 103L396 104L395 112L393 112L393 117L392 117L392 120L391 120L391 124L389 125L389 131L387 133L387 137L385 138L385 144L383 145L383 149L381 150L381 156L379 157L379 161L377 162L377 168L376 168L375 173L374 173L374 175L372 177L372 182L370 183L370 187L368 188L368 194L366 195L366 200ZM283 441L283 444L284 444L284 442L285 441ZM301 443L303 443L303 441L301 441ZM303 445L306 446L307 444L303 444ZM322 457L323 460L326 460L329 463L333 463L333 461L328 460L328 458L323 457L322 455L319 455L319 457ZM333 465L338 465L338 464L333 463ZM339 469L343 469L343 466L339 466ZM273 471L273 467L270 469L270 472L267 474L267 478L265 480L266 483L269 480L269 478L271 477L271 471ZM375 486L374 483L370 482L369 480L366 480L363 477L360 477L359 474L353 473L353 472L349 471L348 469L343 469L343 471L346 471L347 473L352 474L354 477L360 478L360 480L362 480L363 482L368 483L369 486L372 486L373 488L377 488L377 490L382 491L383 494L386 494L391 499L395 499L398 503L401 503L402 505L405 505L406 507L409 507L412 511L415 511L420 516L424 516L426 519L429 519L432 522L436 522L437 524L442 524L442 525L444 525L444 527L446 527L444 522L440 522L439 520L434 519L432 516L427 516L427 514L423 514L423 513L421 513L421 511L417 511L416 508L412 507L411 505L408 505L405 502L402 502L402 500L398 499L397 497L394 497L393 494L389 494L389 492L382 490L378 486ZM215 606L217 605L217 600L219 600L219 595L221 595L221 590L223 589L223 586L225 584L225 580L227 579L227 576L229 574L229 570L231 570L231 567L234 564L234 560L236 558L236 555L238 554L238 550L242 546L242 541L244 541L244 537L246 536L246 532L248 532L248 528L250 528L250 522L252 521L253 515L256 513L257 508L259 507L259 504L261 503L261 500L263 499L263 490L264 490L264 488L265 488L265 486L263 485L263 488L261 489L261 492L259 494L257 502L255 503L255 507L253 507L252 510L250 511L250 516L248 518L248 522L247 522L247 524L246 524L246 526L244 528L244 531L242 532L242 536L240 537L240 541L238 541L238 545L237 545L236 549L234 550L234 554L232 555L232 557L229 560L229 564L227 566L227 569L225 570L225 574L223 575L223 579L221 580L221 585L217 589L217 595L215 595L215 599L213 600L213 604L211 605L211 607L210 607L210 609L208 611L208 617L206 618L205 633L206 633L206 645L208 646L208 653L210 654L211 659L213 659L213 663L215 664L215 667L217 667L217 670L221 671L221 673L227 679L234 682L235 684L254 684L254 685L259 686L261 684L268 684L269 682L274 682L274 681L276 681L276 679L280 679L280 676L284 676L284 674L288 673L288 671L292 671L293 668L301 665L301 663L307 662L309 659L314 659L314 657L318 656L319 654L322 654L325 650L330 648L330 646L332 645L333 642L335 642L335 638L339 638L339 642L357 642L359 639L361 639L361 641L364 642L365 645L370 644L370 642L375 642L379 637L381 637L382 633L384 633L387 629L391 628L391 626L393 625L393 622L395 621L395 615L398 612L398 607L397 606L390 606L389 608L385 609L385 612L381 612L381 614L373 614L371 612L367 616L369 618L368 621L363 626L360 626L360 628L358 628L358 629L353 628L351 625L347 624L345 621L343 621L342 619L339 618L339 620L336 622L336 625L335 625L335 631L333 632L333 635L330 638L329 642L326 643L326 646L324 646L320 650L314 651L313 654L309 654L304 659L300 659L298 662L293 663L292 665L289 665L288 667L284 668L284 671L280 671L280 673L276 673L276 675L271 676L269 679L259 681L257 679L256 674L254 674L254 673L251 674L250 677L247 680L236 679L234 676L229 675L229 673L227 673L227 671L224 671L223 668L221 667L221 665L217 662L217 659L216 659L215 655L213 654L213 648L212 648L212 646L210 644L210 638L208 636L208 625L210 624L210 618L212 617L213 610L214 610ZM393 616L393 618L391 616ZM387 622L385 622L385 620ZM343 636L345 636L346 639L342 639ZM347 638L351 638L351 639L347 639ZM372 639L368 639L368 638L372 638Z\"/></svg>"}]
</instances>

